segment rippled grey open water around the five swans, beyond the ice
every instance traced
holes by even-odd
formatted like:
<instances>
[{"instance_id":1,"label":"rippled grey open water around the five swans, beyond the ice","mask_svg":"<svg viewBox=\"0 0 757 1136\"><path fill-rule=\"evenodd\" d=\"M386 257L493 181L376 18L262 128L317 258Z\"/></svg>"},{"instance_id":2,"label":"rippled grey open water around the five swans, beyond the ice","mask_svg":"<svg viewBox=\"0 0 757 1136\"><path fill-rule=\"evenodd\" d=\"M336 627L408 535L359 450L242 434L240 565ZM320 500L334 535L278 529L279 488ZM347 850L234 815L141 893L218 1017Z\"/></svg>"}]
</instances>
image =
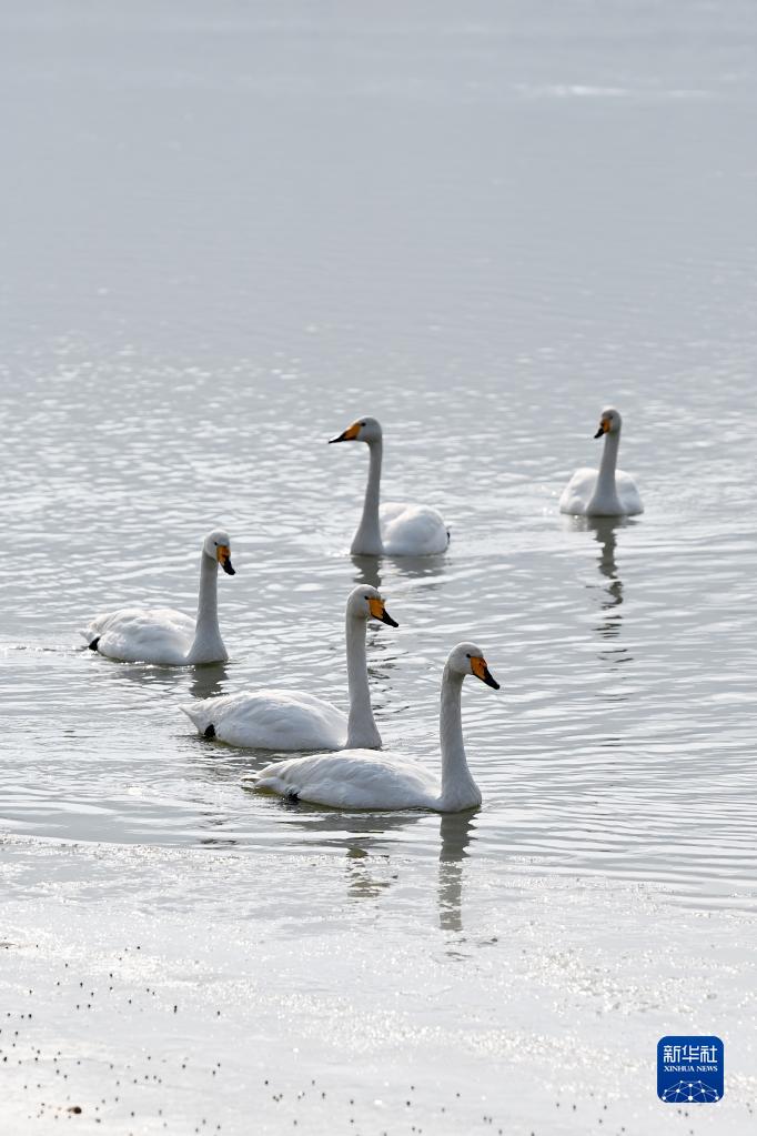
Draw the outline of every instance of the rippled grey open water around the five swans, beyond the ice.
<instances>
[{"instance_id":1,"label":"rippled grey open water around the five swans, beyond the ice","mask_svg":"<svg viewBox=\"0 0 757 1136\"><path fill-rule=\"evenodd\" d=\"M496 858L754 904L757 147L750 2L2 10L0 815L9 834ZM600 408L646 513L557 511ZM363 448L446 557L353 562ZM230 661L82 650L192 611L228 527ZM177 703L345 703L355 580L385 744L464 694L481 811L284 808ZM443 833L444 836L444 833ZM445 853L446 849L446 853Z\"/></svg>"}]
</instances>

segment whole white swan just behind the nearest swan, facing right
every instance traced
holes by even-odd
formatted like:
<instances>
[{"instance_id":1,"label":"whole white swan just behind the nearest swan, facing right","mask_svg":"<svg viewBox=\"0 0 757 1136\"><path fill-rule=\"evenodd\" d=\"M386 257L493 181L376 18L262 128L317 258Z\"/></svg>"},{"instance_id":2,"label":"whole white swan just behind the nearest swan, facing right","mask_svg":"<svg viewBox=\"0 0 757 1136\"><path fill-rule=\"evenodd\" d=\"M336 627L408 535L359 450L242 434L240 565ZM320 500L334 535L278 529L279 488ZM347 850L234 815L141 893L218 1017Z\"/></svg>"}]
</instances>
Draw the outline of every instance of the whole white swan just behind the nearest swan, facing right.
<instances>
[{"instance_id":1,"label":"whole white swan just behind the nearest swan, facing right","mask_svg":"<svg viewBox=\"0 0 757 1136\"><path fill-rule=\"evenodd\" d=\"M369 619L398 625L375 587L350 593L346 612L350 716L301 691L249 691L179 707L205 737L255 750L380 749L365 663Z\"/></svg>"}]
</instances>

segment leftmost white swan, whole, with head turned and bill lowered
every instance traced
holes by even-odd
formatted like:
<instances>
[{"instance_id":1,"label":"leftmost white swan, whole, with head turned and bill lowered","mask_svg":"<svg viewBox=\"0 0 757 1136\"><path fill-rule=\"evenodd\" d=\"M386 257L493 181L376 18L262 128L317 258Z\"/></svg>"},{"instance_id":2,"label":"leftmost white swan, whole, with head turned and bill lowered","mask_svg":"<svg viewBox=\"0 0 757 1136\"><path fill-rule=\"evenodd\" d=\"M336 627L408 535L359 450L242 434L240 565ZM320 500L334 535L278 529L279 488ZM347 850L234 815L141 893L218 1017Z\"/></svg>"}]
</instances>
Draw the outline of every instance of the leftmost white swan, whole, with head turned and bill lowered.
<instances>
[{"instance_id":1,"label":"leftmost white swan, whole, with head turned and bill lowered","mask_svg":"<svg viewBox=\"0 0 757 1136\"><path fill-rule=\"evenodd\" d=\"M154 662L184 667L225 662L228 658L218 627L218 566L234 576L228 535L209 533L200 559L200 600L192 619L173 608L119 608L95 616L82 635L91 651L124 662Z\"/></svg>"}]
</instances>

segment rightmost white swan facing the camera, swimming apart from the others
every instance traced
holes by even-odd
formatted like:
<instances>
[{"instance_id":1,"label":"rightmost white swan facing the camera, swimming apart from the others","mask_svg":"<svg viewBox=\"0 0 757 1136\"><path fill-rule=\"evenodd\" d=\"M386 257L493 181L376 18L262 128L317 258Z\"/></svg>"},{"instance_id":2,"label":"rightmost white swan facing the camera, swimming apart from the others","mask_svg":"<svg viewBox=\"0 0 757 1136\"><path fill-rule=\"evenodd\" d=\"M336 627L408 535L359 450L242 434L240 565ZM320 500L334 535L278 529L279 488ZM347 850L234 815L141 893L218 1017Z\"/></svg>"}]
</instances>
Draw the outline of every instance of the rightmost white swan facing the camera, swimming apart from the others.
<instances>
[{"instance_id":1,"label":"rightmost white swan facing the camera, swimming apart from the others","mask_svg":"<svg viewBox=\"0 0 757 1136\"><path fill-rule=\"evenodd\" d=\"M607 407L602 411L599 429L594 435L605 435L599 469L575 470L560 499L561 512L586 517L623 517L644 512L633 478L615 468L622 425L617 410Z\"/></svg>"}]
</instances>

